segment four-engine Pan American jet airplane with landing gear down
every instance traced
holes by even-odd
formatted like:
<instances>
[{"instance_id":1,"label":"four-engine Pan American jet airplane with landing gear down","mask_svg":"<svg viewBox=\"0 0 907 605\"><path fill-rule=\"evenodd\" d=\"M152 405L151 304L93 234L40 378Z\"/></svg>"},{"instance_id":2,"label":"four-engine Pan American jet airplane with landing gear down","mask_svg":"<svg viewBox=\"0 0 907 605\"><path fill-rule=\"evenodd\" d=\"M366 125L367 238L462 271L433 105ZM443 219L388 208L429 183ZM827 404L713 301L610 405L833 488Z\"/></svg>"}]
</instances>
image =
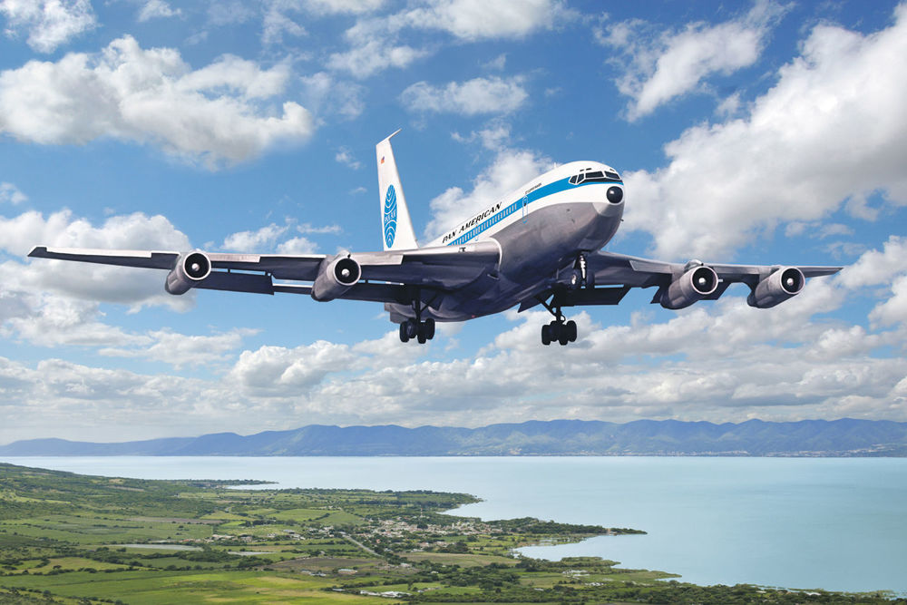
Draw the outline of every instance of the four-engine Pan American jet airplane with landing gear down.
<instances>
[{"instance_id":1,"label":"four-engine Pan American jet airplane with landing gear down","mask_svg":"<svg viewBox=\"0 0 907 605\"><path fill-rule=\"evenodd\" d=\"M716 300L739 282L750 288L750 307L769 308L799 294L806 278L841 270L676 263L604 251L620 226L625 191L619 172L597 161L545 172L420 247L391 147L397 132L375 145L381 251L283 255L36 246L28 256L166 269L164 288L173 295L200 288L384 303L399 324L400 340L420 344L434 338L435 322L541 305L553 316L541 327L542 345L565 346L576 341L577 326L564 307L617 305L630 288L657 288L652 303L680 309Z\"/></svg>"}]
</instances>

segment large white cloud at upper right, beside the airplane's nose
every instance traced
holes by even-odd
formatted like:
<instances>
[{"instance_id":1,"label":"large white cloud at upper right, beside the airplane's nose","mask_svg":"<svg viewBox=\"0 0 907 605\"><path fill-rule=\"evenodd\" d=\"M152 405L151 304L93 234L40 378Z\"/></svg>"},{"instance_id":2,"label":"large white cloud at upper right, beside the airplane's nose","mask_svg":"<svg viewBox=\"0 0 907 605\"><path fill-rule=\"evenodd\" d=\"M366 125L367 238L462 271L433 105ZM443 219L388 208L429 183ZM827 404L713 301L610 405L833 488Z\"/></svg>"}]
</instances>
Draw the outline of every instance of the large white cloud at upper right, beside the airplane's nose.
<instances>
[{"instance_id":1,"label":"large white cloud at upper right, beside the airplane's nose","mask_svg":"<svg viewBox=\"0 0 907 605\"><path fill-rule=\"evenodd\" d=\"M689 128L665 146L667 166L624 174L624 229L649 232L661 256L715 259L842 207L871 219L860 209L874 192L907 204L901 56L907 5L874 34L816 26L745 117Z\"/></svg>"}]
</instances>

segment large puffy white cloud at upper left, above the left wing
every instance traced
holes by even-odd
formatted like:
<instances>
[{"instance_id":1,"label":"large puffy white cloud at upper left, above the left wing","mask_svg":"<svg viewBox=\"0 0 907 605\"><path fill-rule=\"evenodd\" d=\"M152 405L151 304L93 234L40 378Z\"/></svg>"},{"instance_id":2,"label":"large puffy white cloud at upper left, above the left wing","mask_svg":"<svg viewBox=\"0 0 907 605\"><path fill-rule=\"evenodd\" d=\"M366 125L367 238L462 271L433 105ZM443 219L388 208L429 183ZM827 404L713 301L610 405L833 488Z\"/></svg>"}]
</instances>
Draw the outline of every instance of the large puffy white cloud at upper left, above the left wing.
<instances>
[{"instance_id":1,"label":"large puffy white cloud at upper left, above the left wing","mask_svg":"<svg viewBox=\"0 0 907 605\"><path fill-rule=\"evenodd\" d=\"M179 51L125 36L100 54L0 73L0 132L41 144L152 143L214 168L311 136L305 108L271 102L288 75L285 64L262 69L229 55L193 71Z\"/></svg>"}]
</instances>

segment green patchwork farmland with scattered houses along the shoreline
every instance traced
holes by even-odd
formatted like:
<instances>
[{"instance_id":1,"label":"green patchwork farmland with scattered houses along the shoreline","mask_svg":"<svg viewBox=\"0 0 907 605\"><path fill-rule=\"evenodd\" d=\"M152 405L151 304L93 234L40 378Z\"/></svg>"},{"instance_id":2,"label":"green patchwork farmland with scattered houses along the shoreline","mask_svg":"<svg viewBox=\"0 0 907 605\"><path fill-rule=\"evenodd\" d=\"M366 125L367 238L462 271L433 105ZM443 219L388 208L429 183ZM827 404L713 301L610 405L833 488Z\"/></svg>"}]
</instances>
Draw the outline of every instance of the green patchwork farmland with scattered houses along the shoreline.
<instances>
[{"instance_id":1,"label":"green patchwork farmland with scattered houses along the shoreline","mask_svg":"<svg viewBox=\"0 0 907 605\"><path fill-rule=\"evenodd\" d=\"M476 501L466 494L237 483L0 464L0 603L893 601L699 587L598 558L515 558L525 544L636 531L444 514Z\"/></svg>"}]
</instances>

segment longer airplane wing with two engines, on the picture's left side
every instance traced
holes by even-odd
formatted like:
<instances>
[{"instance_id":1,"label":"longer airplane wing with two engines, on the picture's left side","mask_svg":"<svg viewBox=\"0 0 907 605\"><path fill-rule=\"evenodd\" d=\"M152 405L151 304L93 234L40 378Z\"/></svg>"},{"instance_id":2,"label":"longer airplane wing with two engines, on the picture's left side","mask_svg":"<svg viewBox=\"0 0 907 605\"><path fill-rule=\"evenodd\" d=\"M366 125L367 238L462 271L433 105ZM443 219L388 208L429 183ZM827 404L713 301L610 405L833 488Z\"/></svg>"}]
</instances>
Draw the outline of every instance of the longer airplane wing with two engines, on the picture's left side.
<instances>
[{"instance_id":1,"label":"longer airplane wing with two engines, on the picture's left side","mask_svg":"<svg viewBox=\"0 0 907 605\"><path fill-rule=\"evenodd\" d=\"M326 255L224 254L154 250L102 250L37 246L28 254L41 259L102 265L168 269L165 288L183 294L190 288L274 294L309 294L317 300L349 298L398 302L405 288L458 288L493 271L501 258L497 244L478 242L379 252ZM275 283L275 279L309 284ZM380 282L380 283L375 283Z\"/></svg>"}]
</instances>

